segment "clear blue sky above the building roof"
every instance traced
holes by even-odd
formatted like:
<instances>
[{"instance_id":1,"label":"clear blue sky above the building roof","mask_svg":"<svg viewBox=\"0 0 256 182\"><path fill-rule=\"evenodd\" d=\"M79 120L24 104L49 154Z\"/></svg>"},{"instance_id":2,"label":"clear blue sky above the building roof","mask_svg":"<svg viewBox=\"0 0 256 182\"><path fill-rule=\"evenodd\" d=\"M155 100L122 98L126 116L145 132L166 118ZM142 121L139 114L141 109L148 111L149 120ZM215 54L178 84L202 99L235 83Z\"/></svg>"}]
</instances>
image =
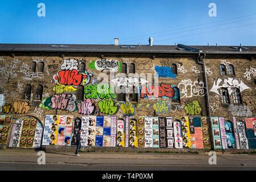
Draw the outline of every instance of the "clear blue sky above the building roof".
<instances>
[{"instance_id":1,"label":"clear blue sky above the building roof","mask_svg":"<svg viewBox=\"0 0 256 182\"><path fill-rule=\"evenodd\" d=\"M38 3L46 17L38 17ZM216 3L217 17L208 15ZM0 1L0 43L256 46L254 0Z\"/></svg>"}]
</instances>

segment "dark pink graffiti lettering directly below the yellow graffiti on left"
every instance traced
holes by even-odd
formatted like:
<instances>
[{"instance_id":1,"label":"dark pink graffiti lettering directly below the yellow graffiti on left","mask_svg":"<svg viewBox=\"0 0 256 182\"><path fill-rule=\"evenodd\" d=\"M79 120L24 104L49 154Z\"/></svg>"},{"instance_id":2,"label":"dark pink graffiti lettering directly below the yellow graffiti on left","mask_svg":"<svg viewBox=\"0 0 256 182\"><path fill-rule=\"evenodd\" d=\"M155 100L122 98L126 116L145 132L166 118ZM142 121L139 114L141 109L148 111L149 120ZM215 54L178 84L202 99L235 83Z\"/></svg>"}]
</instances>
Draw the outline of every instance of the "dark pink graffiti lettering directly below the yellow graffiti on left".
<instances>
[{"instance_id":1,"label":"dark pink graffiti lettering directly below the yellow graffiti on left","mask_svg":"<svg viewBox=\"0 0 256 182\"><path fill-rule=\"evenodd\" d=\"M59 94L51 98L52 109L66 109L68 100L72 97L72 94Z\"/></svg>"}]
</instances>

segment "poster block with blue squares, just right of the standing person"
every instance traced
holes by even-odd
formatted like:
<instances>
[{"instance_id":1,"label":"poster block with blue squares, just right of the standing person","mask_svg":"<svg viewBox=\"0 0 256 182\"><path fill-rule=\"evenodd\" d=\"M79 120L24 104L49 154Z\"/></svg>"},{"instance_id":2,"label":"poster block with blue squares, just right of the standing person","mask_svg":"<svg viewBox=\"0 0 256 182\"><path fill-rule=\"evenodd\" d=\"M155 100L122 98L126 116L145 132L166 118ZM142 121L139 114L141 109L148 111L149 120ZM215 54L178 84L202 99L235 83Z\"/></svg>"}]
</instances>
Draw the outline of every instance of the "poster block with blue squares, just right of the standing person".
<instances>
[{"instance_id":1,"label":"poster block with blue squares, just right of the standing person","mask_svg":"<svg viewBox=\"0 0 256 182\"><path fill-rule=\"evenodd\" d=\"M115 147L116 117L82 117L82 146Z\"/></svg>"}]
</instances>

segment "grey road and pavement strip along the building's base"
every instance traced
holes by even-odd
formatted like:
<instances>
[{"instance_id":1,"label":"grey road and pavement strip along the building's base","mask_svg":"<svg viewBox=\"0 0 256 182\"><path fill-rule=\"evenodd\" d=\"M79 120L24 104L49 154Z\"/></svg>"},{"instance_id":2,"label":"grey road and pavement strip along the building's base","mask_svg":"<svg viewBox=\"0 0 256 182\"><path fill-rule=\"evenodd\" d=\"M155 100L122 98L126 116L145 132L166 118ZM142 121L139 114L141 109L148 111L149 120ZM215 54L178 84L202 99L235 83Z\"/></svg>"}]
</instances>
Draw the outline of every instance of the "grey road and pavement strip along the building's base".
<instances>
[{"instance_id":1,"label":"grey road and pavement strip along the building's base","mask_svg":"<svg viewBox=\"0 0 256 182\"><path fill-rule=\"evenodd\" d=\"M38 164L38 153L27 150L0 151L0 170L100 170L100 171L162 171L162 170L256 170L256 155L218 154L217 164L210 165L207 154L180 155L155 153L46 153L46 164Z\"/></svg>"}]
</instances>

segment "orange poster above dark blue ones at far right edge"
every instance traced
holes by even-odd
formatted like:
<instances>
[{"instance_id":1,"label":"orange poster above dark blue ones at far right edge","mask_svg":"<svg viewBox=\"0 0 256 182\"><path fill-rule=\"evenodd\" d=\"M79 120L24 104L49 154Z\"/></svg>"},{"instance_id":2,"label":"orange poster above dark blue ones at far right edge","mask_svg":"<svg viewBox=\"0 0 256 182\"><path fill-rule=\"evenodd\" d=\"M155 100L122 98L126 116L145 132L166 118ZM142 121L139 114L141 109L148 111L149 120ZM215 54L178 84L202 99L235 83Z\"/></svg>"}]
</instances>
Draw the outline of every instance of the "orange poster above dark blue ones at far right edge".
<instances>
[{"instance_id":1,"label":"orange poster above dark blue ones at far right edge","mask_svg":"<svg viewBox=\"0 0 256 182\"><path fill-rule=\"evenodd\" d=\"M256 118L245 118L249 148L256 148Z\"/></svg>"}]
</instances>

